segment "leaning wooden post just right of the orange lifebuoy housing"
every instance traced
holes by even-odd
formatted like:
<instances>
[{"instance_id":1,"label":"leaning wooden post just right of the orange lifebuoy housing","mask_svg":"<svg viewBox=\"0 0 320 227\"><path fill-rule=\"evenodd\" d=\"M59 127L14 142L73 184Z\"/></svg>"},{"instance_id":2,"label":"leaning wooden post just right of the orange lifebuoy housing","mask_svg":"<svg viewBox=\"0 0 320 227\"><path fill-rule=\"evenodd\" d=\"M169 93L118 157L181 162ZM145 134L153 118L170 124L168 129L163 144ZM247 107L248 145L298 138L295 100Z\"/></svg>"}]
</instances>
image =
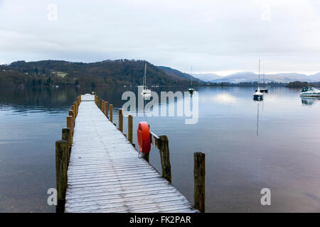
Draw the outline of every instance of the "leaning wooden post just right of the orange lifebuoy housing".
<instances>
[{"instance_id":1,"label":"leaning wooden post just right of the orange lifebuoy housing","mask_svg":"<svg viewBox=\"0 0 320 227\"><path fill-rule=\"evenodd\" d=\"M166 135L160 135L159 140L159 153L161 158L162 177L164 177L164 179L167 179L171 184L171 164L168 137Z\"/></svg>"}]
</instances>

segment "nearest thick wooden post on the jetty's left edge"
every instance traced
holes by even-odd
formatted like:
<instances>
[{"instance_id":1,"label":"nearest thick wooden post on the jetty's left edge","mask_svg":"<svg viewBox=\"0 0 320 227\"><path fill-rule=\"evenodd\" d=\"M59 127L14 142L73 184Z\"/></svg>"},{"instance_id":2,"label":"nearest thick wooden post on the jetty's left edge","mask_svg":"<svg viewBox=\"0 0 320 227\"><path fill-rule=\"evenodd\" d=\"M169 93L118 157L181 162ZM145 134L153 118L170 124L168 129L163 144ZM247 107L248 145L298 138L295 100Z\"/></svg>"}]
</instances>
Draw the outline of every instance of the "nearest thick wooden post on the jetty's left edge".
<instances>
[{"instance_id":1,"label":"nearest thick wooden post on the jetty's left edge","mask_svg":"<svg viewBox=\"0 0 320 227\"><path fill-rule=\"evenodd\" d=\"M65 210L65 191L67 189L67 154L68 142L58 140L55 142L55 182L57 188L58 204L55 208L57 213Z\"/></svg>"}]
</instances>

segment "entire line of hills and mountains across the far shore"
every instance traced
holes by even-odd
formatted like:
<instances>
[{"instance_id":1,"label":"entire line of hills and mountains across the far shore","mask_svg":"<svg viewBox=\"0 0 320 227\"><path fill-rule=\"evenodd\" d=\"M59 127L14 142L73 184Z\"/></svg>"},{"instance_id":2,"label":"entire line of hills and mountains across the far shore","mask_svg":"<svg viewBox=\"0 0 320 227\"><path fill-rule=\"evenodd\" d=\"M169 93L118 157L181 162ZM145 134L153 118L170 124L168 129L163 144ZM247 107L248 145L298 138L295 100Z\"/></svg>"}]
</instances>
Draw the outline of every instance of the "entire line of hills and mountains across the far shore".
<instances>
[{"instance_id":1,"label":"entire line of hills and mountains across the far shore","mask_svg":"<svg viewBox=\"0 0 320 227\"><path fill-rule=\"evenodd\" d=\"M8 86L51 86L80 85L101 87L107 85L142 85L144 60L105 60L102 62L67 62L61 60L42 60L38 62L18 61L0 65L0 87ZM156 66L146 62L147 84L160 86L220 86L222 82L238 84L257 82L258 75L253 72L237 72L222 77L218 74L190 74L171 67ZM260 82L289 83L320 82L320 72L310 76L298 73L260 75ZM208 83L215 84L208 84Z\"/></svg>"}]
</instances>

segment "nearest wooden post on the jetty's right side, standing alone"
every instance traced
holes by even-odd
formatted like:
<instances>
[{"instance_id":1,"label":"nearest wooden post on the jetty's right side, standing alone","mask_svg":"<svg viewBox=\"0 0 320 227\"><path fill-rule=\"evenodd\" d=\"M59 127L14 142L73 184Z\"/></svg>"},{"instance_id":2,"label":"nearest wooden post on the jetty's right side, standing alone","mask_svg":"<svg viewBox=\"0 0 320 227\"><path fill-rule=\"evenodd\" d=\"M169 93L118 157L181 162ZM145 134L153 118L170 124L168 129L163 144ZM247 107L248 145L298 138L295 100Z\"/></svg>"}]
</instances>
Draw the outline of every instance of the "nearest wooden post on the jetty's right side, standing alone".
<instances>
[{"instance_id":1,"label":"nearest wooden post on the jetty's right side, standing alone","mask_svg":"<svg viewBox=\"0 0 320 227\"><path fill-rule=\"evenodd\" d=\"M206 162L205 162L205 153L196 152L193 153L194 158L194 207L200 212L205 212L205 197L206 197Z\"/></svg>"}]
</instances>

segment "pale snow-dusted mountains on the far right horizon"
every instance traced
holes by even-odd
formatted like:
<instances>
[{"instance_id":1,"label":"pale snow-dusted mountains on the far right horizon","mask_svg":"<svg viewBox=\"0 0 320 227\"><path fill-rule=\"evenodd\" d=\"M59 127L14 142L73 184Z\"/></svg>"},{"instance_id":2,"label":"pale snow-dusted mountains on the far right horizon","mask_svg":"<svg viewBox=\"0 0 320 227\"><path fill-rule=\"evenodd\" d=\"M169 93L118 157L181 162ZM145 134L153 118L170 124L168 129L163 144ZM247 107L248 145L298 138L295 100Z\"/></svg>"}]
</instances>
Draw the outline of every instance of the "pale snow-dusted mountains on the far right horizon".
<instances>
[{"instance_id":1,"label":"pale snow-dusted mountains on the far right horizon","mask_svg":"<svg viewBox=\"0 0 320 227\"><path fill-rule=\"evenodd\" d=\"M212 75L211 79L210 75ZM199 79L203 79L206 82L214 82L214 83L221 83L221 82L228 82L233 84L238 84L240 82L257 82L258 81L258 74L254 72L237 72L234 74L230 74L225 77L221 77L217 74L195 74L196 77ZM263 76L260 74L260 82L281 82L281 83L289 83L294 81L301 81L301 82L319 82L320 81L320 72L306 76L306 74L299 74L299 73L277 73L277 74L265 74Z\"/></svg>"}]
</instances>

